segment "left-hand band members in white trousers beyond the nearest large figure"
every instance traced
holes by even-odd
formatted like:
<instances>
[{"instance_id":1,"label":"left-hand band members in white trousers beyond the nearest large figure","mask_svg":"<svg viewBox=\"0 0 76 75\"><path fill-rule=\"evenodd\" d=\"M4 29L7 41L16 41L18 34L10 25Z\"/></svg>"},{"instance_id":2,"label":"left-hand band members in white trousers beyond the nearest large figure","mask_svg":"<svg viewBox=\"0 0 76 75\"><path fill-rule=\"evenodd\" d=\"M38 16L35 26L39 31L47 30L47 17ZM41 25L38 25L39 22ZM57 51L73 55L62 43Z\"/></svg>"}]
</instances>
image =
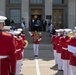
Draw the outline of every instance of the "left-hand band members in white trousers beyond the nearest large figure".
<instances>
[{"instance_id":1,"label":"left-hand band members in white trousers beyond the nearest large figure","mask_svg":"<svg viewBox=\"0 0 76 75\"><path fill-rule=\"evenodd\" d=\"M16 75L20 75L22 61L24 57L24 49L27 47L28 42L24 34L22 34L22 29L9 30L10 27L4 26L3 30L7 31L8 34L14 36L15 47L16 47Z\"/></svg>"}]
</instances>

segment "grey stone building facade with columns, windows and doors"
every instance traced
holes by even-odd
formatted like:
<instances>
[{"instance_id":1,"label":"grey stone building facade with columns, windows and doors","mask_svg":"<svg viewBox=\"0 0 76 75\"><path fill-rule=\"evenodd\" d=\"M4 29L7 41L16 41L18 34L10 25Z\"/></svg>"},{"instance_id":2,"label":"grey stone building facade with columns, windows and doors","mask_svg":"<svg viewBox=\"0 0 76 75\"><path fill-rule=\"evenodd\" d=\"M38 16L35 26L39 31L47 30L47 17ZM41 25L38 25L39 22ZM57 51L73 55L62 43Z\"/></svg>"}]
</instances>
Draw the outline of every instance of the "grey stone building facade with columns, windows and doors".
<instances>
[{"instance_id":1,"label":"grey stone building facade with columns, windows and doors","mask_svg":"<svg viewBox=\"0 0 76 75\"><path fill-rule=\"evenodd\" d=\"M0 0L0 15L14 20L19 27L24 18L27 28L33 17L52 19L56 28L76 26L76 0Z\"/></svg>"}]
</instances>

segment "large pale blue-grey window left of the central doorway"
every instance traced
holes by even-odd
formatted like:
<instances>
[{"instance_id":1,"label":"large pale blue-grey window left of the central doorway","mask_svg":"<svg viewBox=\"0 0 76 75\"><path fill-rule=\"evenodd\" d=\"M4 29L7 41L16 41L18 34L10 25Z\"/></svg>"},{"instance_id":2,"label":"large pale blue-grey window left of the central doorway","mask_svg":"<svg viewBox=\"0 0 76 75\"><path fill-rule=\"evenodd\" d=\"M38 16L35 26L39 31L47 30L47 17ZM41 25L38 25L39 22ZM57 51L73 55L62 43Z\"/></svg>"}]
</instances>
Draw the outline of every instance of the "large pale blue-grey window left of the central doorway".
<instances>
[{"instance_id":1,"label":"large pale blue-grey window left of the central doorway","mask_svg":"<svg viewBox=\"0 0 76 75\"><path fill-rule=\"evenodd\" d=\"M20 9L10 10L10 20L13 20L14 23L20 23Z\"/></svg>"}]
</instances>

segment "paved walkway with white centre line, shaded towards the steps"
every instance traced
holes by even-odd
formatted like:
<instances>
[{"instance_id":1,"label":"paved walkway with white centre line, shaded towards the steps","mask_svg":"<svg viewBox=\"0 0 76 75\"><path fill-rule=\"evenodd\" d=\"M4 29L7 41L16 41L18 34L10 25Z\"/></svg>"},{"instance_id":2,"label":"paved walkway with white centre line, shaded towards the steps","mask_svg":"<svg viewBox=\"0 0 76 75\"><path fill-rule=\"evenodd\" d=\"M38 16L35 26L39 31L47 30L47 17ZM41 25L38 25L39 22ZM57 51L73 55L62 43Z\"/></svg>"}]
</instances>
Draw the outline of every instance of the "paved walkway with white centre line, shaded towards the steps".
<instances>
[{"instance_id":1,"label":"paved walkway with white centre line, shaded towards the steps","mask_svg":"<svg viewBox=\"0 0 76 75\"><path fill-rule=\"evenodd\" d=\"M34 58L31 44L26 48L24 55L22 75L63 75L55 66L52 45L41 44L39 57Z\"/></svg>"}]
</instances>

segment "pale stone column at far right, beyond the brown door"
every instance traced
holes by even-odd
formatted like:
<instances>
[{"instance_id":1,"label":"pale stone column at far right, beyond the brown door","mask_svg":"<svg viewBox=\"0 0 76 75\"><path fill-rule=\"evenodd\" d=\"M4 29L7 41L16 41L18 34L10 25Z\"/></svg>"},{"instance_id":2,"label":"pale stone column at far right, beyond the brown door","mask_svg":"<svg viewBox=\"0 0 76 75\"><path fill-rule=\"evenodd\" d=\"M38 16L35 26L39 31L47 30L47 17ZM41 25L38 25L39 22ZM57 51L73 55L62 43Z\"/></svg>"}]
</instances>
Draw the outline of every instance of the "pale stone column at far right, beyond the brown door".
<instances>
[{"instance_id":1,"label":"pale stone column at far right, beyond the brown door","mask_svg":"<svg viewBox=\"0 0 76 75\"><path fill-rule=\"evenodd\" d=\"M68 0L68 28L74 29L76 21L76 0Z\"/></svg>"}]
</instances>

